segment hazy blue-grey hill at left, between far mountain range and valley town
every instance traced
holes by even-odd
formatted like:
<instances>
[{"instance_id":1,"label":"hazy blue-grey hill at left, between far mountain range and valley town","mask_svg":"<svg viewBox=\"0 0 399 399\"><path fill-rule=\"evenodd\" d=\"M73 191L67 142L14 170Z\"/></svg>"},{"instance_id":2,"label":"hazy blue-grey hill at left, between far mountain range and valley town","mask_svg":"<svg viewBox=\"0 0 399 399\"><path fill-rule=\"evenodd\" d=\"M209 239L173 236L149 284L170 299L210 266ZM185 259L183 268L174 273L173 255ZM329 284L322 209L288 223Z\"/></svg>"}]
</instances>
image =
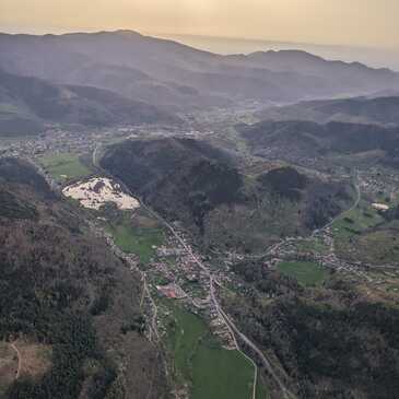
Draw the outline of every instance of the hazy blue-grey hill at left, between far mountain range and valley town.
<instances>
[{"instance_id":1,"label":"hazy blue-grey hill at left, between far mountain range and valley town","mask_svg":"<svg viewBox=\"0 0 399 399\"><path fill-rule=\"evenodd\" d=\"M0 134L37 133L45 122L98 127L154 121L174 124L178 118L107 90L0 71Z\"/></svg>"}]
</instances>

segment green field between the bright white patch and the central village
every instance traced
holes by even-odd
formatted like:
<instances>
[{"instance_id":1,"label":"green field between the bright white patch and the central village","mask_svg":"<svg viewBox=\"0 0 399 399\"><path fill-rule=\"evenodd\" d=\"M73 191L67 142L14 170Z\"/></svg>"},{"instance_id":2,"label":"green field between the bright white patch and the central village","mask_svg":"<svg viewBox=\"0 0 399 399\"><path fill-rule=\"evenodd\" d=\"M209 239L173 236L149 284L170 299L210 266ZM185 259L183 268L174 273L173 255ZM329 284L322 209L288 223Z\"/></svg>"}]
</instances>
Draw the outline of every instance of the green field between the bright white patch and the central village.
<instances>
[{"instance_id":1,"label":"green field between the bright white patch and the central village","mask_svg":"<svg viewBox=\"0 0 399 399\"><path fill-rule=\"evenodd\" d=\"M127 254L136 254L143 263L148 263L164 240L164 232L156 227L136 227L124 220L108 226L115 244Z\"/></svg>"}]
</instances>

